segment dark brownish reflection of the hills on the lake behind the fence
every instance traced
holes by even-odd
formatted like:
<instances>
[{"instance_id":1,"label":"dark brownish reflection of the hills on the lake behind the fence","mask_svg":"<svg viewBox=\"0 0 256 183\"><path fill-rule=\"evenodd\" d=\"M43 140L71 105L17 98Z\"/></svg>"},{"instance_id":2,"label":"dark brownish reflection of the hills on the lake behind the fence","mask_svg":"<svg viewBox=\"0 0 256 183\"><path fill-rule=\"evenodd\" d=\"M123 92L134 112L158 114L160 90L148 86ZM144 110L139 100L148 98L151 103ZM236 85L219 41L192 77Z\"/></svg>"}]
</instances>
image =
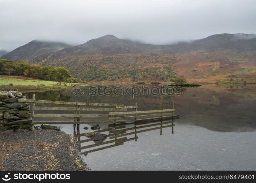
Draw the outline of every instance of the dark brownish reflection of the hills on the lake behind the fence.
<instances>
[{"instance_id":1,"label":"dark brownish reflection of the hills on the lake behind the fence","mask_svg":"<svg viewBox=\"0 0 256 183\"><path fill-rule=\"evenodd\" d=\"M114 87L114 86L112 86ZM183 125L193 125L220 132L256 131L256 87L255 85L204 85L187 88L182 96L90 96L89 87L81 88L85 94L75 96L75 89L36 91L24 93L27 98L36 94L38 100L61 100L93 103L121 103L139 105L139 110L159 109L159 102L166 108L175 100L176 113L182 116ZM47 105L44 105L47 106ZM56 119L59 120L59 119Z\"/></svg>"}]
</instances>

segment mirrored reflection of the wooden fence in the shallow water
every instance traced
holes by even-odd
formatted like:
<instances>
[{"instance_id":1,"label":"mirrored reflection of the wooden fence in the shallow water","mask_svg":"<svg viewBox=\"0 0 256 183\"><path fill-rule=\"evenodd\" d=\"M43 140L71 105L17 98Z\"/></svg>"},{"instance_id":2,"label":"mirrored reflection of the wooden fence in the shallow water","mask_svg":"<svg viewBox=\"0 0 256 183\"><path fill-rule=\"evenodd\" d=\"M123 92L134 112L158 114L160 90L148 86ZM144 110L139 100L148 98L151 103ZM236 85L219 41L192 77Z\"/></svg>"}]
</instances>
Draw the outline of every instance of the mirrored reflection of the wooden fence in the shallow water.
<instances>
[{"instance_id":1,"label":"mirrored reflection of the wooden fence in the shallow water","mask_svg":"<svg viewBox=\"0 0 256 183\"><path fill-rule=\"evenodd\" d=\"M128 141L137 141L137 134L141 132L159 130L159 135L162 135L163 128L171 128L170 134L174 134L174 125L174 120L113 123L108 124L108 128L84 133L80 133L78 125L77 128L74 128L74 137L77 138L79 152L86 155L87 153L124 145ZM81 137L86 137L86 139L81 140Z\"/></svg>"}]
</instances>

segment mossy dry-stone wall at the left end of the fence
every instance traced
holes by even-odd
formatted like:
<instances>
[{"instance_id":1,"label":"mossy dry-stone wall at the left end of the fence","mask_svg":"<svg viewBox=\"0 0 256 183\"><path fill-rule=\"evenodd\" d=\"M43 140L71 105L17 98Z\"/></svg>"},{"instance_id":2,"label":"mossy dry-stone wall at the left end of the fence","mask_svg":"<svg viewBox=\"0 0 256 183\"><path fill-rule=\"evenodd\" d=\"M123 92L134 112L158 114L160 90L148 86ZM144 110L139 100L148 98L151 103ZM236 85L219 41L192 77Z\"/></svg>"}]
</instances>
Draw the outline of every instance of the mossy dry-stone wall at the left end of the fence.
<instances>
[{"instance_id":1,"label":"mossy dry-stone wall at the left end of the fence","mask_svg":"<svg viewBox=\"0 0 256 183\"><path fill-rule=\"evenodd\" d=\"M18 91L0 91L0 132L32 130L29 103Z\"/></svg>"}]
</instances>

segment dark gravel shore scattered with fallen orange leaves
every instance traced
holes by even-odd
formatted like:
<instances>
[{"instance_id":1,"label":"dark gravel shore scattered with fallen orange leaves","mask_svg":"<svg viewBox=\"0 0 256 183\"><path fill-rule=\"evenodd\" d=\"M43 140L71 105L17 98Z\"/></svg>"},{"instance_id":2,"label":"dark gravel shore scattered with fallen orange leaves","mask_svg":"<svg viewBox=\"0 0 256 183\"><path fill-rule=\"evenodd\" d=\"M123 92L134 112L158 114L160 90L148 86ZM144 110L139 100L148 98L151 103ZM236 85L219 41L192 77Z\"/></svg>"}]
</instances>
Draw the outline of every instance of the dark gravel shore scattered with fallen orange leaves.
<instances>
[{"instance_id":1,"label":"dark gravel shore scattered with fallen orange leaves","mask_svg":"<svg viewBox=\"0 0 256 183\"><path fill-rule=\"evenodd\" d=\"M0 133L0 170L88 170L76 147L62 131Z\"/></svg>"}]
</instances>

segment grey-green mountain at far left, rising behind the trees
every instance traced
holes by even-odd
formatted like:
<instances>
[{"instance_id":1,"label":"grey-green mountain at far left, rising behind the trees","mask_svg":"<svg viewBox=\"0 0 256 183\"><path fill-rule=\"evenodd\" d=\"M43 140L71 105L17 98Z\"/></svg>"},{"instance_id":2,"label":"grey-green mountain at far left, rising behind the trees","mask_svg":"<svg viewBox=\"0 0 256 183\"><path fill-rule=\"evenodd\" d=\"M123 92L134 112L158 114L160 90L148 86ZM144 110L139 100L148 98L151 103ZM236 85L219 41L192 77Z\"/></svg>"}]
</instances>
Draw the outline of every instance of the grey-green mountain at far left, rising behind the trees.
<instances>
[{"instance_id":1,"label":"grey-green mountain at far left, rising behind the trees","mask_svg":"<svg viewBox=\"0 0 256 183\"><path fill-rule=\"evenodd\" d=\"M38 41L33 40L28 44L20 46L13 51L1 56L1 59L8 60L30 60L33 57L37 57L46 53L51 53L54 51L59 51L63 48L70 47L70 45L64 44L62 42L52 42L52 41Z\"/></svg>"}]
</instances>

